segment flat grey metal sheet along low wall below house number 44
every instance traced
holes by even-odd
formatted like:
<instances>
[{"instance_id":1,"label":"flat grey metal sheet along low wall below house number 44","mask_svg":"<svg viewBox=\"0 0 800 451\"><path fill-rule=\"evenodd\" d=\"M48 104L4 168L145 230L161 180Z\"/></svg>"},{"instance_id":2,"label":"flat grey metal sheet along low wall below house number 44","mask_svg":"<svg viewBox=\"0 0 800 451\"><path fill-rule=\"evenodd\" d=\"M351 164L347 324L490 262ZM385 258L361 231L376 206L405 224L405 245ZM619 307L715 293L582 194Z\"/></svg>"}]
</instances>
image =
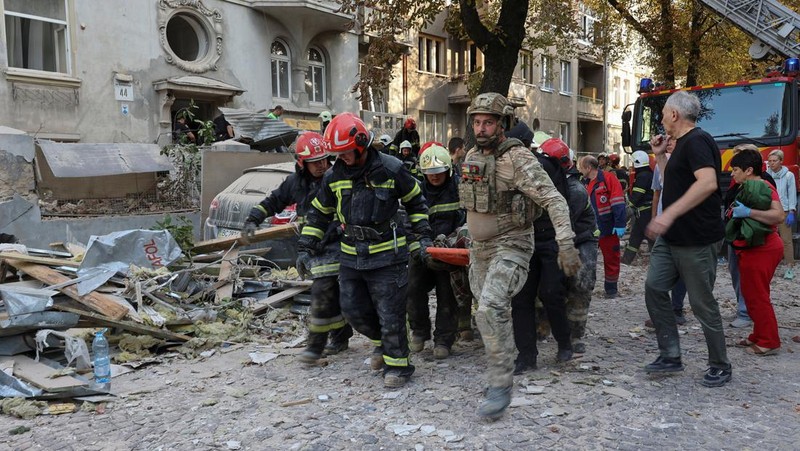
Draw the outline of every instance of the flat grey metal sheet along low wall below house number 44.
<instances>
[{"instance_id":1,"label":"flat grey metal sheet along low wall below house number 44","mask_svg":"<svg viewBox=\"0 0 800 451\"><path fill-rule=\"evenodd\" d=\"M174 169L155 144L40 141L38 145L56 177L99 177Z\"/></svg>"}]
</instances>

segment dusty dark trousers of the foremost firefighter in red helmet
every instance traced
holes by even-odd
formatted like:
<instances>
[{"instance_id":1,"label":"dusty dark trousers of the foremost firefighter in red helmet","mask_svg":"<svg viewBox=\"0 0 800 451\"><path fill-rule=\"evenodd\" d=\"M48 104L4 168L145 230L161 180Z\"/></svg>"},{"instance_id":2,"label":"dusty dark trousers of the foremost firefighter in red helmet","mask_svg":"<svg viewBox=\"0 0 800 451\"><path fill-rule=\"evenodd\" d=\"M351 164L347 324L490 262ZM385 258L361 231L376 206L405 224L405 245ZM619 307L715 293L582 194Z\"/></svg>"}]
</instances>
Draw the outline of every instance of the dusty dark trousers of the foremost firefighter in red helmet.
<instances>
[{"instance_id":1,"label":"dusty dark trousers of the foremost firefighter in red helmet","mask_svg":"<svg viewBox=\"0 0 800 451\"><path fill-rule=\"evenodd\" d=\"M384 372L397 369L402 376L414 373L408 359L407 280L405 263L369 270L339 268L342 314L353 329L381 347Z\"/></svg>"}]
</instances>

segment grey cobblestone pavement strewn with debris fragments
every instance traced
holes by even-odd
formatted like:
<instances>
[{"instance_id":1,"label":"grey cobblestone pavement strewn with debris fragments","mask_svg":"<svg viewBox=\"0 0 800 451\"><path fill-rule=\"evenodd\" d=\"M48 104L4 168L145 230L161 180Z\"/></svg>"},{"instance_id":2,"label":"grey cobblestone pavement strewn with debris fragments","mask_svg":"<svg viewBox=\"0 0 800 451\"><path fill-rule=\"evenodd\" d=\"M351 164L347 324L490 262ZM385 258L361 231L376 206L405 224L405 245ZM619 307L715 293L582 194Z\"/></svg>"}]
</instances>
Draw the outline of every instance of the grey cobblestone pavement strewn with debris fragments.
<instances>
[{"instance_id":1,"label":"grey cobblestone pavement strewn with debris fragments","mask_svg":"<svg viewBox=\"0 0 800 451\"><path fill-rule=\"evenodd\" d=\"M719 269L715 293L732 344L746 331L727 327L735 302ZM557 364L555 343L540 346L539 369L515 377L518 406L496 422L475 413L485 382L477 343L459 343L454 356L435 361L428 342L413 356L412 381L389 391L369 370L370 347L358 337L312 368L292 355L246 365L248 352L265 350L255 345L205 361L166 359L115 378L121 398L102 414L1 416L0 449L797 449L798 282L773 282L781 353L757 357L731 346L733 381L705 388L698 381L706 347L691 313L681 328L686 370L661 377L642 370L657 356L643 326L644 272L623 267L617 299L596 291L582 358ZM288 405L295 401L307 403ZM31 430L10 435L17 426Z\"/></svg>"}]
</instances>

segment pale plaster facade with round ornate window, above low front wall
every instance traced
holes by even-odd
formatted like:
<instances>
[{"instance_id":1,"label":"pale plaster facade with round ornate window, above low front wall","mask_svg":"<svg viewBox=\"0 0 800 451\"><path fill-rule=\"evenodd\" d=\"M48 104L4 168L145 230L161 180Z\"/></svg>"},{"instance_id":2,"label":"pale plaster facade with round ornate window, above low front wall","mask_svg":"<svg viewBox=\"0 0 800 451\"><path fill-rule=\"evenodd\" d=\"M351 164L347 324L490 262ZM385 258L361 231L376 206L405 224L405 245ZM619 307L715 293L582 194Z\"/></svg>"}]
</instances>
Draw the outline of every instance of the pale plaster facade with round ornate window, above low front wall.
<instances>
[{"instance_id":1,"label":"pale plaster facade with round ornate window, above low front wall","mask_svg":"<svg viewBox=\"0 0 800 451\"><path fill-rule=\"evenodd\" d=\"M358 36L319 0L2 0L0 124L40 138L169 142L190 101L354 111Z\"/></svg>"}]
</instances>

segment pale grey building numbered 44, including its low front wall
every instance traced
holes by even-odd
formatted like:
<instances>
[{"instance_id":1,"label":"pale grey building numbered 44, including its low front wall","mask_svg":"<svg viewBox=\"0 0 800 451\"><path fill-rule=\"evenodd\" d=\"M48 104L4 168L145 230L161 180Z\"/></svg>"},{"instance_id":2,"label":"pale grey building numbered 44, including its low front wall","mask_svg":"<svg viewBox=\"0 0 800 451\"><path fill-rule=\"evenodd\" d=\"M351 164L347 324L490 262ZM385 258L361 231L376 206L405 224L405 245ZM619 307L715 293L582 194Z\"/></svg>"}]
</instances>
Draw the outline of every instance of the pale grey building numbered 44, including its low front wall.
<instances>
[{"instance_id":1,"label":"pale grey building numbered 44, including its low front wall","mask_svg":"<svg viewBox=\"0 0 800 451\"><path fill-rule=\"evenodd\" d=\"M121 216L89 224L78 202L152 191L171 169L160 149L190 103L199 120L220 107L266 114L281 105L281 119L298 128L318 127L322 111L358 110L350 93L358 37L334 2L0 0L0 8L0 232L35 245L162 218L125 217L132 210L123 203L111 211ZM268 157L244 158L220 183ZM55 200L75 208L41 220Z\"/></svg>"}]
</instances>

